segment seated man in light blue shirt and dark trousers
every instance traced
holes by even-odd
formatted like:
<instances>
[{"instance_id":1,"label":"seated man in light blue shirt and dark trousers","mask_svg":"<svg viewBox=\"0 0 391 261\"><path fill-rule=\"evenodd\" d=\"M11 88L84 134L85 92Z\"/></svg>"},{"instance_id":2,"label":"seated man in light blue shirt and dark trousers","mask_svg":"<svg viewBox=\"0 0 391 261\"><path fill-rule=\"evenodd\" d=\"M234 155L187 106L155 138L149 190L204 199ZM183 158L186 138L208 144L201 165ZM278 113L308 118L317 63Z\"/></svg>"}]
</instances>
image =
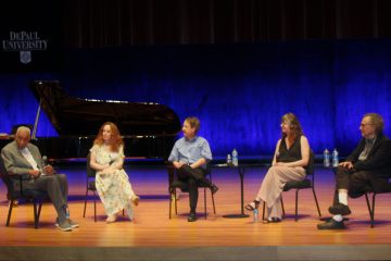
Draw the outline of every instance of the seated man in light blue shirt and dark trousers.
<instances>
[{"instance_id":1,"label":"seated man in light blue shirt and dark trousers","mask_svg":"<svg viewBox=\"0 0 391 261\"><path fill-rule=\"evenodd\" d=\"M206 184L213 194L218 187L205 178L205 166L212 160L212 152L206 139L197 136L200 121L197 117L187 117L184 122L184 137L178 139L169 154L178 177L187 182L189 188L190 215L188 222L197 220L195 209L198 201L198 185Z\"/></svg>"}]
</instances>

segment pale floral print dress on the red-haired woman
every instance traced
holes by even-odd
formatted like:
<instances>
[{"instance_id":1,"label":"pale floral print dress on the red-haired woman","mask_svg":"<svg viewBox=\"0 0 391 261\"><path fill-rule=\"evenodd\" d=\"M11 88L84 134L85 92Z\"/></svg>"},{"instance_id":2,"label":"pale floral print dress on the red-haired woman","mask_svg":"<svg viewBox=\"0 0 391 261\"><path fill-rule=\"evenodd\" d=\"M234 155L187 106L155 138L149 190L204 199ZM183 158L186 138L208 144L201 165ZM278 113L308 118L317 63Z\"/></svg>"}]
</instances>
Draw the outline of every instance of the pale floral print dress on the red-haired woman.
<instances>
[{"instance_id":1,"label":"pale floral print dress on the red-haired woman","mask_svg":"<svg viewBox=\"0 0 391 261\"><path fill-rule=\"evenodd\" d=\"M96 156L97 163L102 165L108 163L115 164L115 162L125 158L123 147L119 147L118 152L112 152L104 146L94 145L90 151ZM129 177L124 169L115 170L110 174L97 171L96 186L108 215L114 215L125 209L129 219L133 220L131 199L136 195L131 189Z\"/></svg>"}]
</instances>

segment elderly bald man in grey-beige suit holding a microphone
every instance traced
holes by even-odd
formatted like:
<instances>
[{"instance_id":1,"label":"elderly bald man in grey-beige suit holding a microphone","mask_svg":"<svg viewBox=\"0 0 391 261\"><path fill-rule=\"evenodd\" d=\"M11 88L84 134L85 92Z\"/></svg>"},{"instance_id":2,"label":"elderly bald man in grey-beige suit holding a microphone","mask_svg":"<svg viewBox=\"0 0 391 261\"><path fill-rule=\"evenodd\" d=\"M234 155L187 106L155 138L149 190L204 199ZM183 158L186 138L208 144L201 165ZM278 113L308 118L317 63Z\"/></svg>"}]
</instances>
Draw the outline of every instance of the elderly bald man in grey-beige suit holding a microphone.
<instances>
[{"instance_id":1,"label":"elderly bald man in grey-beige suit holding a microphone","mask_svg":"<svg viewBox=\"0 0 391 261\"><path fill-rule=\"evenodd\" d=\"M21 126L15 140L1 150L1 158L9 175L25 175L24 189L46 191L58 213L55 226L72 231L78 224L66 216L67 179L64 174L55 174L51 165L43 165L38 148L30 144L30 129Z\"/></svg>"}]
</instances>

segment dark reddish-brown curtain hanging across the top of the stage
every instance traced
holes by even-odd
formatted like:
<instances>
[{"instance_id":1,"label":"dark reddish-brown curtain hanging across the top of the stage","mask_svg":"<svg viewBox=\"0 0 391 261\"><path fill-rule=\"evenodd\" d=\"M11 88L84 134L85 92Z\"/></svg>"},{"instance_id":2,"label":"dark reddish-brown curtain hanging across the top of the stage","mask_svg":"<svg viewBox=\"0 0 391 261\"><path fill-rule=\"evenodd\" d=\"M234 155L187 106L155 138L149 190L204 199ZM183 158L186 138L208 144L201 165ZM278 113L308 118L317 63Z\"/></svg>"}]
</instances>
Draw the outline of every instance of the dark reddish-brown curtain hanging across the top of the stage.
<instances>
[{"instance_id":1,"label":"dark reddish-brown curtain hanging across the top of the stage","mask_svg":"<svg viewBox=\"0 0 391 261\"><path fill-rule=\"evenodd\" d=\"M70 48L391 36L388 0L64 1Z\"/></svg>"}]
</instances>

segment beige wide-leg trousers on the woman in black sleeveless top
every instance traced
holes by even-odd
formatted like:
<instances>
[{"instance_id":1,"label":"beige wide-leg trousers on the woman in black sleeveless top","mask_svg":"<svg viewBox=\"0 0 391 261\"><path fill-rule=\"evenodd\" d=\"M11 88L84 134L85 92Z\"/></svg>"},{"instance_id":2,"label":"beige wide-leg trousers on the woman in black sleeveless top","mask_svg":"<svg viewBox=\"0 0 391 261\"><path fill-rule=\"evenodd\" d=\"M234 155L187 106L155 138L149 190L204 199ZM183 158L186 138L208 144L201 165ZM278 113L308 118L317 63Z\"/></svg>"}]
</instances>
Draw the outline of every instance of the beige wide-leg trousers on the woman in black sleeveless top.
<instances>
[{"instance_id":1,"label":"beige wide-leg trousers on the woman in black sleeveless top","mask_svg":"<svg viewBox=\"0 0 391 261\"><path fill-rule=\"evenodd\" d=\"M305 170L302 166L272 166L261 184L256 200L266 202L267 217L282 216L281 192L287 182L303 181Z\"/></svg>"}]
</instances>

